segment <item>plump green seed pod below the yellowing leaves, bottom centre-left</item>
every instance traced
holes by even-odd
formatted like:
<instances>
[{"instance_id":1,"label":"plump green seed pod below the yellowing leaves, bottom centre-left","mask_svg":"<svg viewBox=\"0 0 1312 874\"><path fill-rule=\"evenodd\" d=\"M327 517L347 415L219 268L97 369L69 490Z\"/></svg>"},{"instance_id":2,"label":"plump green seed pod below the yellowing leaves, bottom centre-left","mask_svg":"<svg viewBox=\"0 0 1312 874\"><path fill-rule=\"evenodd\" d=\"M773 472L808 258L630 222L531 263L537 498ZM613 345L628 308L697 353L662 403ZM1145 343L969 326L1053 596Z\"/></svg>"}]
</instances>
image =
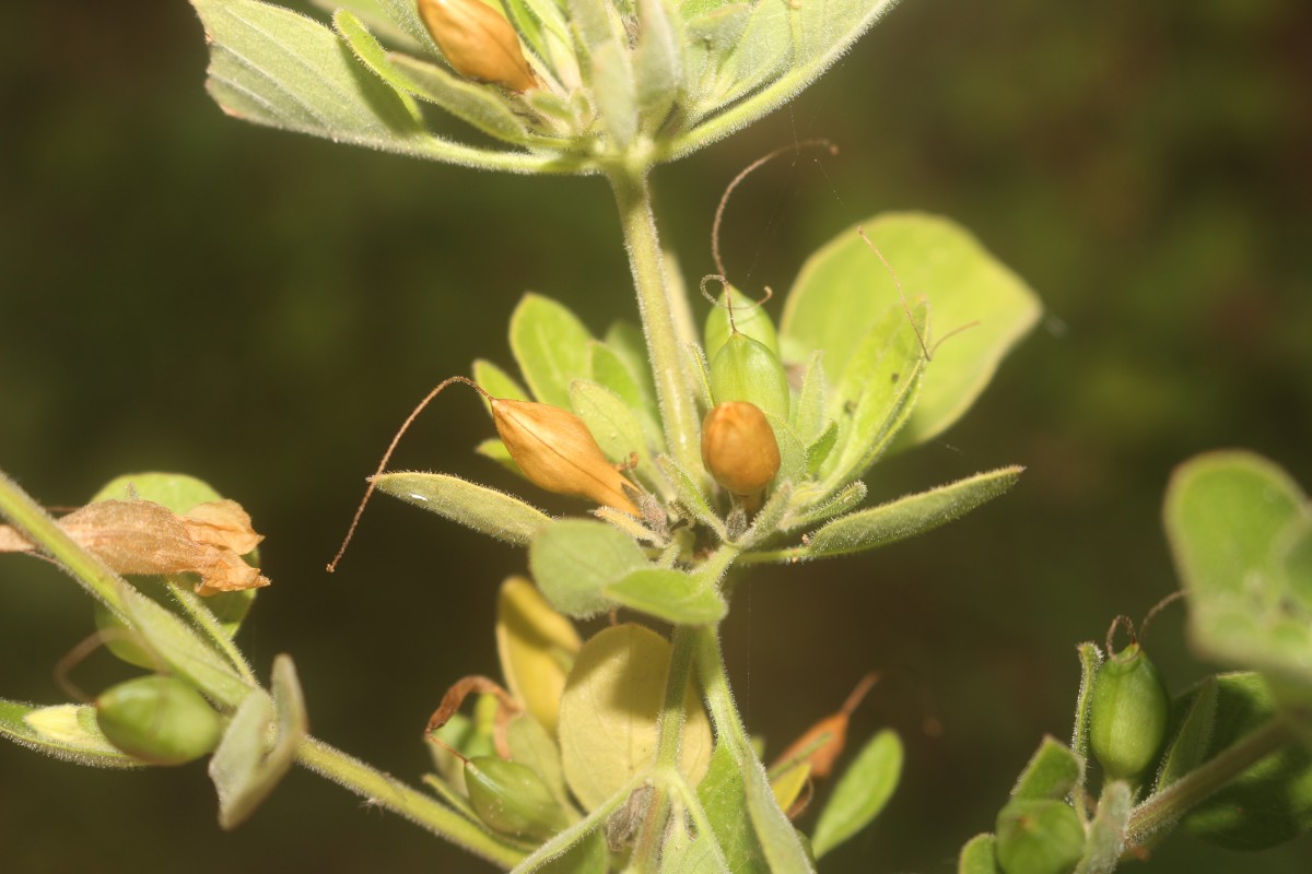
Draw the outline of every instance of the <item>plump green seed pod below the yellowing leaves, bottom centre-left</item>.
<instances>
[{"instance_id":1,"label":"plump green seed pod below the yellowing leaves, bottom centre-left","mask_svg":"<svg viewBox=\"0 0 1312 874\"><path fill-rule=\"evenodd\" d=\"M464 763L470 805L488 828L543 841L569 824L560 802L531 768L496 756Z\"/></svg>"}]
</instances>

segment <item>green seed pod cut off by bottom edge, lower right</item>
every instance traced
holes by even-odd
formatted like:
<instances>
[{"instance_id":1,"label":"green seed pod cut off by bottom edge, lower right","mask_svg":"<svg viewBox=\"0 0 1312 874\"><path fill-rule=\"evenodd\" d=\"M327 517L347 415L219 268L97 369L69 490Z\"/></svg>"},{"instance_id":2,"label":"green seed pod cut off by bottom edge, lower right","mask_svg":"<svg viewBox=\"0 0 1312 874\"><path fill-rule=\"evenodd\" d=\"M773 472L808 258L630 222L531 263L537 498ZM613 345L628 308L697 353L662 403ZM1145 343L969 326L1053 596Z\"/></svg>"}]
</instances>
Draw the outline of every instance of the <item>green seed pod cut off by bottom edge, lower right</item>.
<instances>
[{"instance_id":1,"label":"green seed pod cut off by bottom edge, lower right","mask_svg":"<svg viewBox=\"0 0 1312 874\"><path fill-rule=\"evenodd\" d=\"M1005 874L1071 874L1084 856L1084 824L1065 802L1018 798L997 815L996 848Z\"/></svg>"}]
</instances>

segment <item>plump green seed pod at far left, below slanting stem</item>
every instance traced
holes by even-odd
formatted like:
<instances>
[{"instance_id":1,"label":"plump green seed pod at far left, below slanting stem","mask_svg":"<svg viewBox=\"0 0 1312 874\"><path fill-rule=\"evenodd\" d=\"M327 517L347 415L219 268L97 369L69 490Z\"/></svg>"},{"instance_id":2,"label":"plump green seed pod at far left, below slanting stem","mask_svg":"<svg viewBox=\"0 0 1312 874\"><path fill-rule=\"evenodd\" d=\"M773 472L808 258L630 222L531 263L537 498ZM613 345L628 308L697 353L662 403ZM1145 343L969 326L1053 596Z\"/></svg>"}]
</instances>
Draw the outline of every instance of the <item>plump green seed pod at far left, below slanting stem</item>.
<instances>
[{"instance_id":1,"label":"plump green seed pod at far left, below slanting stem","mask_svg":"<svg viewBox=\"0 0 1312 874\"><path fill-rule=\"evenodd\" d=\"M181 765L213 752L223 719L174 676L143 676L96 698L96 722L110 743L154 765Z\"/></svg>"}]
</instances>

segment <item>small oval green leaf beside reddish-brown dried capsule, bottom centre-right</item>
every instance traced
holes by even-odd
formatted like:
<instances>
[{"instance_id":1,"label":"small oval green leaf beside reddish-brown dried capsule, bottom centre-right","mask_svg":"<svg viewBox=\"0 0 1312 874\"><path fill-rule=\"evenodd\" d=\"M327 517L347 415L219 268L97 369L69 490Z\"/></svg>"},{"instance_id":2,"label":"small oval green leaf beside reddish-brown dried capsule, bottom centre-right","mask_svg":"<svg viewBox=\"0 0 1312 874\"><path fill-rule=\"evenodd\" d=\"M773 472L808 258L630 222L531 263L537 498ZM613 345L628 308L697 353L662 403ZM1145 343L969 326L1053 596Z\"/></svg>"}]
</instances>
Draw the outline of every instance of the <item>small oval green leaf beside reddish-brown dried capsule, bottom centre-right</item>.
<instances>
[{"instance_id":1,"label":"small oval green leaf beside reddish-brown dried capsule, bottom centre-right","mask_svg":"<svg viewBox=\"0 0 1312 874\"><path fill-rule=\"evenodd\" d=\"M903 746L896 732L886 729L866 742L820 811L812 839L816 858L855 836L879 815L897 788L901 763Z\"/></svg>"}]
</instances>

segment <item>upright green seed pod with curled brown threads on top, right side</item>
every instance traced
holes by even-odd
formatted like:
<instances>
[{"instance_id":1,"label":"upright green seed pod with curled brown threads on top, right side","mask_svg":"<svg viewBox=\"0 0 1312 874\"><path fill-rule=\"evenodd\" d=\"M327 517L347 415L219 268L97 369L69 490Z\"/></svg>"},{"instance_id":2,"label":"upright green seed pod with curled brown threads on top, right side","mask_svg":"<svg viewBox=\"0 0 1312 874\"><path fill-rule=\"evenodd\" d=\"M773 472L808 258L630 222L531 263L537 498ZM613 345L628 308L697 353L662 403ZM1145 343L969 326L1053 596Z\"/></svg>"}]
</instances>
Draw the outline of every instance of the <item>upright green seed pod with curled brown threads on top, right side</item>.
<instances>
[{"instance_id":1,"label":"upright green seed pod with curled brown threads on top, right side","mask_svg":"<svg viewBox=\"0 0 1312 874\"><path fill-rule=\"evenodd\" d=\"M1169 719L1166 687L1139 643L1102 664L1089 700L1089 746L1109 780L1139 782L1157 761Z\"/></svg>"}]
</instances>

